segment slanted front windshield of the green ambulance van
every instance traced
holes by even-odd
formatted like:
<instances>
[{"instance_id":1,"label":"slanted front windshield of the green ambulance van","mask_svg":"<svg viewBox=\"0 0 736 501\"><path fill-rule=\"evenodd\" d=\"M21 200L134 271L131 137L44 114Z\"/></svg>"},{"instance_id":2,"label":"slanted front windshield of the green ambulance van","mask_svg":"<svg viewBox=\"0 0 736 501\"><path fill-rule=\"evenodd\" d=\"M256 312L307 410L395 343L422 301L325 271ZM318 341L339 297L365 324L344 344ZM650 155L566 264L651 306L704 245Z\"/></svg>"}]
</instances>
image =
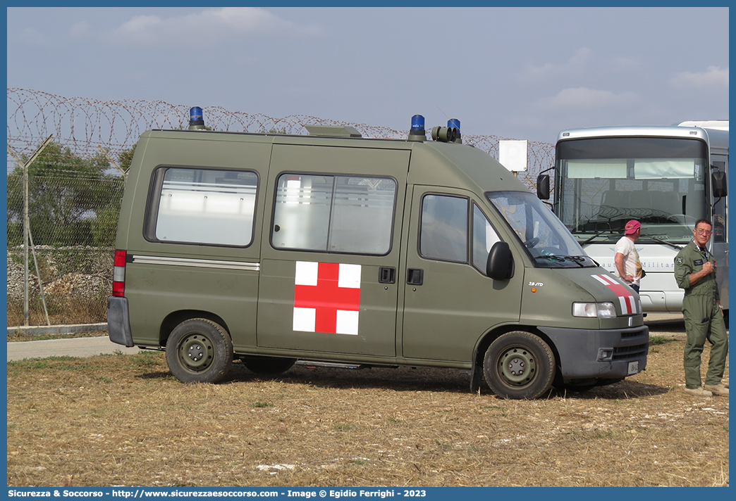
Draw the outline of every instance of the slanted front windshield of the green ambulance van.
<instances>
[{"instance_id":1,"label":"slanted front windshield of the green ambulance van","mask_svg":"<svg viewBox=\"0 0 736 501\"><path fill-rule=\"evenodd\" d=\"M536 267L596 267L556 215L530 192L486 192Z\"/></svg>"}]
</instances>

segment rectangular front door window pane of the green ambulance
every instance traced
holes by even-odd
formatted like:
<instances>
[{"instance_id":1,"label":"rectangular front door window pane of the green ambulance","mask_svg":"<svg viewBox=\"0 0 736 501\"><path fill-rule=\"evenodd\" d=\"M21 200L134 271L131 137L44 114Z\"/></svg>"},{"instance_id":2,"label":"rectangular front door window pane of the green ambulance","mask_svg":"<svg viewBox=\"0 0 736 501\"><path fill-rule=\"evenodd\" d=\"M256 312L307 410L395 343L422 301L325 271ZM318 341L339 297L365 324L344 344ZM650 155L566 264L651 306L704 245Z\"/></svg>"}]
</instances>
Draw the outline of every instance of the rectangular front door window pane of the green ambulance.
<instances>
[{"instance_id":1,"label":"rectangular front door window pane of the green ambulance","mask_svg":"<svg viewBox=\"0 0 736 501\"><path fill-rule=\"evenodd\" d=\"M467 262L467 198L422 198L420 254L429 259Z\"/></svg>"}]
</instances>

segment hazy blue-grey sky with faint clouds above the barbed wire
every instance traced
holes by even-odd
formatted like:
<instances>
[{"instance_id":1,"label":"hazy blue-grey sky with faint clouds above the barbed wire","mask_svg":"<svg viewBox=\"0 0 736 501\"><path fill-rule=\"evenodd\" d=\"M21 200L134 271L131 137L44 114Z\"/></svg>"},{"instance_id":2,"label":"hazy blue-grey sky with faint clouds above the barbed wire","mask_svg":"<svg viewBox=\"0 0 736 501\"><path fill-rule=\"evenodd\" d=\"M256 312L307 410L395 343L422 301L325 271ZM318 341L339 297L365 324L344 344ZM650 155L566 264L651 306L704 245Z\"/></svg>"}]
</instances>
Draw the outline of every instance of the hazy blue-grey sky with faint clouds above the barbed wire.
<instances>
[{"instance_id":1,"label":"hazy blue-grey sky with faint clouds above the barbed wire","mask_svg":"<svg viewBox=\"0 0 736 501\"><path fill-rule=\"evenodd\" d=\"M554 143L728 119L729 10L13 7L7 87Z\"/></svg>"}]
</instances>

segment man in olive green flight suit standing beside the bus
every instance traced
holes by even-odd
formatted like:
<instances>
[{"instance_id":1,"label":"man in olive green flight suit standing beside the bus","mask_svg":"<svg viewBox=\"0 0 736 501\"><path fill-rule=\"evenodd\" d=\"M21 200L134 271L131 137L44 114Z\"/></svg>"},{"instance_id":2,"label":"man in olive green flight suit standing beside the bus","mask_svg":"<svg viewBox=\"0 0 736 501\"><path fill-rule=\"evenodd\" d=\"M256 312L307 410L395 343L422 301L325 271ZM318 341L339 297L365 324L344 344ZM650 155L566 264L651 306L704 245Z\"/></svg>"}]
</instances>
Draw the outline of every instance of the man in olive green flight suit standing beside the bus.
<instances>
[{"instance_id":1,"label":"man in olive green flight suit standing beside the bus","mask_svg":"<svg viewBox=\"0 0 736 501\"><path fill-rule=\"evenodd\" d=\"M721 379L726 368L729 338L726 323L723 322L718 285L715 283L715 259L705 248L711 231L709 220L697 220L693 241L675 257L675 279L677 285L685 289L682 300L687 332L684 392L696 397L710 397L713 393L728 397L729 389L721 383ZM712 346L705 386L701 386L700 356L706 339Z\"/></svg>"}]
</instances>

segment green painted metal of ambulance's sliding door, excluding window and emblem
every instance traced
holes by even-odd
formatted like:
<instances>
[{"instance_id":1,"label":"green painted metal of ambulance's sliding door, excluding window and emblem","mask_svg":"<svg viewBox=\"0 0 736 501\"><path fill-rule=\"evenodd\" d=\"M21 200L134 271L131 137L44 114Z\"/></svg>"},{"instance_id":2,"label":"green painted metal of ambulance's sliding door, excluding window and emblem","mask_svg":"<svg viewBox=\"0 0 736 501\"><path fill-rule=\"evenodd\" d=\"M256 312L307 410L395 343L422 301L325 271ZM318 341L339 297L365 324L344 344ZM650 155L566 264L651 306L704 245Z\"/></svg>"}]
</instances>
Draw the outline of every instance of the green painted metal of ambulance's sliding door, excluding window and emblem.
<instances>
[{"instance_id":1,"label":"green painted metal of ambulance's sliding door, excluding window and emblem","mask_svg":"<svg viewBox=\"0 0 736 501\"><path fill-rule=\"evenodd\" d=\"M299 138L279 138L281 142ZM400 280L400 247L406 173L410 151L397 148L402 143L350 140L319 140L322 146L275 144L269 173L269 187L263 217L261 283L258 296L258 347L263 350L299 350L326 356L347 353L353 356L396 356L397 295ZM325 146L328 145L328 146ZM345 146L347 145L347 146ZM389 145L392 148L376 148ZM282 173L326 173L344 176L381 176L396 182L392 245L385 256L326 253L273 248L273 197ZM360 231L360 228L355 228ZM294 331L294 276L297 261L361 265L358 334L327 334ZM379 284L381 267L394 267L397 281Z\"/></svg>"}]
</instances>

